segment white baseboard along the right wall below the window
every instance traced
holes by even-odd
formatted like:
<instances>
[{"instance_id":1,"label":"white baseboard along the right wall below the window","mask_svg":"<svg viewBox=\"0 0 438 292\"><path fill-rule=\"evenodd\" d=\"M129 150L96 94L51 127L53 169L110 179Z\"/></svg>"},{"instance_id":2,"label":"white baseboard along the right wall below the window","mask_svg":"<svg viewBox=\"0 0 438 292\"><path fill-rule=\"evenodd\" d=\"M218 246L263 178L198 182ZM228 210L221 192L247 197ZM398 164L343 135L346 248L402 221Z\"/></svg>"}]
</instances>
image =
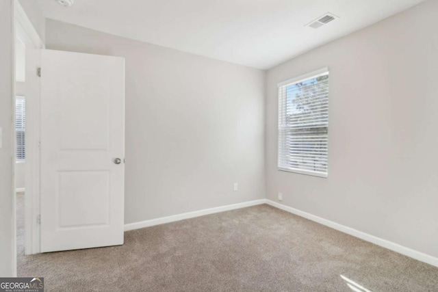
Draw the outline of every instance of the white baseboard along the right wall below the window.
<instances>
[{"instance_id":1,"label":"white baseboard along the right wall below the window","mask_svg":"<svg viewBox=\"0 0 438 292\"><path fill-rule=\"evenodd\" d=\"M318 217L318 216L312 215L310 213L306 213L304 211L300 211L298 209L288 207L284 204L279 204L278 202L274 202L272 200L266 200L266 204L269 204L272 207L276 207L278 209L287 211L289 213L298 215L300 217L305 217L305 218L312 220L314 222L318 222L319 224L329 226L333 229L339 230L339 231L346 233L348 235L352 235L354 237L358 237L360 239L363 239L365 241L369 241L369 242L374 243L376 245L380 245L383 248L387 248L388 250L393 250L394 252L398 252L399 254L404 254L405 256L415 258L418 261L422 261L424 263L428 263L429 265L434 265L435 267L438 267L438 258L435 256L430 256L429 254L424 254L422 252L418 252L417 250L412 250L411 248L406 248L398 243L394 243L394 242L388 241L386 239L381 239L380 237L375 237L374 235L370 235L368 233L363 233L363 232L356 230L354 228L350 228L350 227L344 226L342 224L337 224L337 223L332 222L330 220L326 220L322 217Z\"/></svg>"}]
</instances>

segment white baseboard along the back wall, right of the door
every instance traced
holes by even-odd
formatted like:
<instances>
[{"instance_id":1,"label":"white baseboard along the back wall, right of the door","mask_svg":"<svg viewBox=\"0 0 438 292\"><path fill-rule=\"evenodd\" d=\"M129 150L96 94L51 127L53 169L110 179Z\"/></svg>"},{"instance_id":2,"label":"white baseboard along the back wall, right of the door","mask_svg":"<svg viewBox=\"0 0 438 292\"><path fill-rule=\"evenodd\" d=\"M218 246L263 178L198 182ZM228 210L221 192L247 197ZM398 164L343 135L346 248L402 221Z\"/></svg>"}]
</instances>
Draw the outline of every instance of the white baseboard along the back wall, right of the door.
<instances>
[{"instance_id":1,"label":"white baseboard along the back wall, right of the door","mask_svg":"<svg viewBox=\"0 0 438 292\"><path fill-rule=\"evenodd\" d=\"M185 219L190 219L190 218L199 217L199 216L203 216L203 215L209 215L209 214L213 214L213 213L219 213L219 212L230 211L230 210L235 210L235 209L240 209L240 208L245 208L245 207L251 207L251 206L258 205L258 204L266 204L266 199L253 200L253 201L242 202L242 203L237 203L237 204L229 204L227 206L222 206L222 207L203 209L203 210L199 210L199 211L182 213L182 214L177 214L177 215L172 215L172 216L167 216L167 217L159 217L156 219L146 220L146 221L142 221L142 222L129 223L129 224L125 224L125 231L135 230L135 229L140 229L140 228L144 228L144 227L155 226L155 225L159 225L159 224L165 224L165 223L170 223L170 222L175 222L175 221L180 221L180 220L185 220Z\"/></svg>"}]
</instances>

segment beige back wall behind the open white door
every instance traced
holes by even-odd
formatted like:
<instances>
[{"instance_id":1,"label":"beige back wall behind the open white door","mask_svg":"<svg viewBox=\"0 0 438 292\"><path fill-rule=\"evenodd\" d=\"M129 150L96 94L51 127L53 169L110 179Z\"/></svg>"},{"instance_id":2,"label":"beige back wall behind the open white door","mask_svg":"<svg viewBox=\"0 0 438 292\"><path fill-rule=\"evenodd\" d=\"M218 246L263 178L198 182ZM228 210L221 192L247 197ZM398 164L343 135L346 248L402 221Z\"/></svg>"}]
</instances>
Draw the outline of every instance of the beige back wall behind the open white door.
<instances>
[{"instance_id":1,"label":"beige back wall behind the open white door","mask_svg":"<svg viewBox=\"0 0 438 292\"><path fill-rule=\"evenodd\" d=\"M126 59L125 223L264 198L263 71L46 25L47 49Z\"/></svg>"}]
</instances>

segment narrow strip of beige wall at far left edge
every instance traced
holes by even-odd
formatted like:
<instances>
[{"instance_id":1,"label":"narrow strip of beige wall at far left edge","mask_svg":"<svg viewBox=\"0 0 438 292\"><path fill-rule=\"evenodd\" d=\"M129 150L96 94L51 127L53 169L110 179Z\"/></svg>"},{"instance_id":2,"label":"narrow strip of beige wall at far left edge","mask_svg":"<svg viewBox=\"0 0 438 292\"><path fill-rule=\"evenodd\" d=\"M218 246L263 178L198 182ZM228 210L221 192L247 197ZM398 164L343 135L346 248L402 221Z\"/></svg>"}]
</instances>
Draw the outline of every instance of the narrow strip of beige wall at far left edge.
<instances>
[{"instance_id":1,"label":"narrow strip of beige wall at far left edge","mask_svg":"<svg viewBox=\"0 0 438 292\"><path fill-rule=\"evenodd\" d=\"M0 276L13 276L14 213L12 161L12 0L0 1L0 128L3 130L0 148Z\"/></svg>"}]
</instances>

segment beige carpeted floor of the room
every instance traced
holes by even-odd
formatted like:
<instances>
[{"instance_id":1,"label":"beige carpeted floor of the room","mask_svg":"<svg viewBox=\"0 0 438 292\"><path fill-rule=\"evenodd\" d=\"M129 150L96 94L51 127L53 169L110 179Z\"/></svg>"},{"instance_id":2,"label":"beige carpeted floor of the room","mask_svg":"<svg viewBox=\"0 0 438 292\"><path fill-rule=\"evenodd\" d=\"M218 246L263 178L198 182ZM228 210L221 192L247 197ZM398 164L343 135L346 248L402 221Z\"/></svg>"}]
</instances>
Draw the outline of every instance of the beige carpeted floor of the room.
<instances>
[{"instance_id":1,"label":"beige carpeted floor of the room","mask_svg":"<svg viewBox=\"0 0 438 292\"><path fill-rule=\"evenodd\" d=\"M268 205L125 233L125 244L25 256L45 291L438 291L438 268ZM368 290L367 290L368 289Z\"/></svg>"}]
</instances>

